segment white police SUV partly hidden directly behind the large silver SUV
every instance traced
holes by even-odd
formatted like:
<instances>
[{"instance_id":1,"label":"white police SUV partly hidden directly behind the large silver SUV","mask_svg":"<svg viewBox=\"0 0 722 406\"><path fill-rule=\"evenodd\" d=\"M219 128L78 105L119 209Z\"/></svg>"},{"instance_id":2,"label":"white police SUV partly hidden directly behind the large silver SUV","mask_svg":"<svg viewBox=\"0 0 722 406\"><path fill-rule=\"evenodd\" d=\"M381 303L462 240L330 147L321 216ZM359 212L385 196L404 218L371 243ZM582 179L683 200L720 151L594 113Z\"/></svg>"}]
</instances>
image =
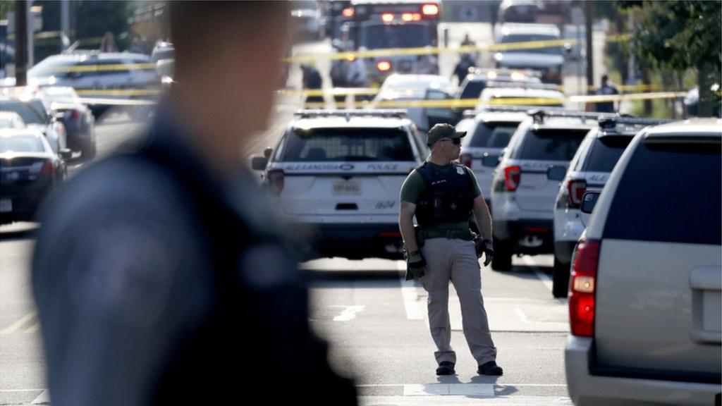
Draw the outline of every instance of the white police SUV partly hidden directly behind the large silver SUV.
<instances>
[{"instance_id":1,"label":"white police SUV partly hidden directly behind the large silver SUV","mask_svg":"<svg viewBox=\"0 0 722 406\"><path fill-rule=\"evenodd\" d=\"M584 231L579 210L585 191L601 191L625 148L644 126L669 120L651 118L606 117L589 131L569 164L569 170L557 168L549 173L552 180L562 181L554 203L554 272L552 293L567 296L572 251Z\"/></svg>"}]
</instances>

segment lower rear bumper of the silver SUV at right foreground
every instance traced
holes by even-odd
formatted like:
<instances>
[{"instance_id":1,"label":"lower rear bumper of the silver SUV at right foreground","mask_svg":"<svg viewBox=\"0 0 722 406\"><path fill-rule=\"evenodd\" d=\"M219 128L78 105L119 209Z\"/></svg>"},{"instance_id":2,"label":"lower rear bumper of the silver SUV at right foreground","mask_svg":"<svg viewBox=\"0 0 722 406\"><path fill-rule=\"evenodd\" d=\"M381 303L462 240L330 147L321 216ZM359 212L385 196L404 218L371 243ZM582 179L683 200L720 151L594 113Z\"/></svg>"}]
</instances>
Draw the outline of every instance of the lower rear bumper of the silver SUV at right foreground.
<instances>
[{"instance_id":1,"label":"lower rear bumper of the silver SUV at right foreground","mask_svg":"<svg viewBox=\"0 0 722 406\"><path fill-rule=\"evenodd\" d=\"M593 339L567 337L567 389L576 406L588 405L715 405L719 384L593 375Z\"/></svg>"}]
</instances>

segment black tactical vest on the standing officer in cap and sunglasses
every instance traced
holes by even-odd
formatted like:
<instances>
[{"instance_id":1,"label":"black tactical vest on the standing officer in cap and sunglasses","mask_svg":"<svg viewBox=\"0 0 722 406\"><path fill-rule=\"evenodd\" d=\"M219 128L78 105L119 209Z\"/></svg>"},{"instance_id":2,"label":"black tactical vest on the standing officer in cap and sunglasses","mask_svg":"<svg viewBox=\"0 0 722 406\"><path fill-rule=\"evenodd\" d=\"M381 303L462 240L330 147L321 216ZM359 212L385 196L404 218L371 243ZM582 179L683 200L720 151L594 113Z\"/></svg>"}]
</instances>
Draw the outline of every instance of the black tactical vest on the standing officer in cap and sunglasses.
<instances>
[{"instance_id":1,"label":"black tactical vest on the standing officer in cap and sunglasses","mask_svg":"<svg viewBox=\"0 0 722 406\"><path fill-rule=\"evenodd\" d=\"M416 168L424 178L426 189L416 205L416 220L422 229L440 223L469 221L474 208L474 186L464 165L451 163L447 173L424 163Z\"/></svg>"}]
</instances>

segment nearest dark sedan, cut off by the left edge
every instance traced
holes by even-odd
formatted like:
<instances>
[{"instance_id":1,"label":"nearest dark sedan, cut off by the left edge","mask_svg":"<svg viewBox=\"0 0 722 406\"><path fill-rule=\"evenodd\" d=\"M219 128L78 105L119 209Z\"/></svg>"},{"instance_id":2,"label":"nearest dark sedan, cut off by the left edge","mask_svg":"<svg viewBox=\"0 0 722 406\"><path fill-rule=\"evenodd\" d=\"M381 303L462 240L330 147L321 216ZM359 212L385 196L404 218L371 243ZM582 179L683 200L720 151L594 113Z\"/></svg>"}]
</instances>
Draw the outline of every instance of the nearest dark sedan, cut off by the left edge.
<instances>
[{"instance_id":1,"label":"nearest dark sedan, cut off by the left edge","mask_svg":"<svg viewBox=\"0 0 722 406\"><path fill-rule=\"evenodd\" d=\"M1 129L0 224L32 221L40 203L66 176L64 159L40 131Z\"/></svg>"}]
</instances>

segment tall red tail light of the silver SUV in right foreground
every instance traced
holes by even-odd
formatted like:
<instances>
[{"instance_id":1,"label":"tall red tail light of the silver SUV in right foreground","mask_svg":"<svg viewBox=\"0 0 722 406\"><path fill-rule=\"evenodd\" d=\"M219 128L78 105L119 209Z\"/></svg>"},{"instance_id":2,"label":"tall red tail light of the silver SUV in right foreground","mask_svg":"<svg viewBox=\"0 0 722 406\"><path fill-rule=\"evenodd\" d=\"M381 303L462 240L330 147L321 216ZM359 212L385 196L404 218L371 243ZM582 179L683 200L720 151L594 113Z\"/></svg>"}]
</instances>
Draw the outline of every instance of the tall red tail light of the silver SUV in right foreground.
<instances>
[{"instance_id":1,"label":"tall red tail light of the silver SUV in right foreground","mask_svg":"<svg viewBox=\"0 0 722 406\"><path fill-rule=\"evenodd\" d=\"M582 239L577 244L569 283L569 322L573 335L594 336L596 270L601 241Z\"/></svg>"}]
</instances>

